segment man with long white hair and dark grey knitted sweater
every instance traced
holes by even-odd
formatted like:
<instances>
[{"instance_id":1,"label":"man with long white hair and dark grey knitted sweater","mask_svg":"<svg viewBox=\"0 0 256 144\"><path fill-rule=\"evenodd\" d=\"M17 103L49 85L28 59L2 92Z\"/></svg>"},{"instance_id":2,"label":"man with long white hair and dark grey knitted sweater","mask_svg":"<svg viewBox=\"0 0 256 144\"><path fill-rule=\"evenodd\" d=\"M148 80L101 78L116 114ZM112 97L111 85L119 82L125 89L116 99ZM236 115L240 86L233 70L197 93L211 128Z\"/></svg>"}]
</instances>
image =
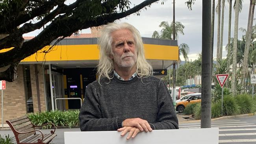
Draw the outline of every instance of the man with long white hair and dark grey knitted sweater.
<instances>
[{"instance_id":1,"label":"man with long white hair and dark grey knitted sweater","mask_svg":"<svg viewBox=\"0 0 256 144\"><path fill-rule=\"evenodd\" d=\"M129 139L142 131L178 129L171 96L152 76L139 31L127 23L108 24L98 44L99 78L86 88L81 131L117 130Z\"/></svg>"}]
</instances>

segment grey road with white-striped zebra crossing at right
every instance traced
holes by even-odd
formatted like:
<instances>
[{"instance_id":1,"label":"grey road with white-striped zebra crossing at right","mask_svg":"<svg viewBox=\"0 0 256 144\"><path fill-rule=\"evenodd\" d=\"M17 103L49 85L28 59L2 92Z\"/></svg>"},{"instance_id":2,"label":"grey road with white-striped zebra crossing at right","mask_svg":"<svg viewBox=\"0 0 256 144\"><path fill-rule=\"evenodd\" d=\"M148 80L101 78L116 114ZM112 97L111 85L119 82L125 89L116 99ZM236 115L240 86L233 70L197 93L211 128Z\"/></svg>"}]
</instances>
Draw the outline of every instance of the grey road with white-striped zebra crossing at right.
<instances>
[{"instance_id":1,"label":"grey road with white-striped zebra crossing at right","mask_svg":"<svg viewBox=\"0 0 256 144\"><path fill-rule=\"evenodd\" d=\"M200 128L200 123L180 124L180 129ZM219 127L219 144L256 144L256 116L211 121Z\"/></svg>"}]
</instances>

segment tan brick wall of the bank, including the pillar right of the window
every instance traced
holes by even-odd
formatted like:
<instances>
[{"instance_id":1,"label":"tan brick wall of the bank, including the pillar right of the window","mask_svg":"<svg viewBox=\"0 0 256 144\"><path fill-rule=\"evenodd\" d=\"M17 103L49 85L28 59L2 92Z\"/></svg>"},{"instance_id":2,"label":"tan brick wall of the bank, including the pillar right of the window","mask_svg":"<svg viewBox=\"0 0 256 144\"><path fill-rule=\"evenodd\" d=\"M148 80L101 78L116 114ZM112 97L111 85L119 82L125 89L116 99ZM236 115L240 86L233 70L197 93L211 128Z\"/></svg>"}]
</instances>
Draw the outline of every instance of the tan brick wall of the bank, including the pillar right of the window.
<instances>
[{"instance_id":1,"label":"tan brick wall of the bank, including the pillar right of the window","mask_svg":"<svg viewBox=\"0 0 256 144\"><path fill-rule=\"evenodd\" d=\"M38 79L39 79L41 111L46 111L45 92L44 92L45 89L44 89L43 72L42 72L41 65L37 65L37 70L38 70ZM24 116L27 113L22 65L19 65L17 74L18 74L18 78L15 81L11 83L6 81L6 90L4 90L4 123L6 123L5 122L6 120ZM30 65L30 79L31 79L32 97L33 97L33 110L34 112L38 112L37 89L36 89L34 65ZM0 122L2 121L1 108L2 108L2 103L0 103Z\"/></svg>"}]
</instances>

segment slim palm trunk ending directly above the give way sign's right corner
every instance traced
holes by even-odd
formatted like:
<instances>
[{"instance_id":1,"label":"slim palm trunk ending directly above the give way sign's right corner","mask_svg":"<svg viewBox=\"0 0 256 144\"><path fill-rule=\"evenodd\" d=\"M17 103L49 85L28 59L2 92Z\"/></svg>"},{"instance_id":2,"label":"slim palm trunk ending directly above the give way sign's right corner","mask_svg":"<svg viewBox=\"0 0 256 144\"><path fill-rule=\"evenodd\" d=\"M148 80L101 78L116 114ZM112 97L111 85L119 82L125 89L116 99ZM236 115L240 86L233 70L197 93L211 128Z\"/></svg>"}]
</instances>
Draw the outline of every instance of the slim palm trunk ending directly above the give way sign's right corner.
<instances>
[{"instance_id":1,"label":"slim palm trunk ending directly above the give way sign's right corner","mask_svg":"<svg viewBox=\"0 0 256 144\"><path fill-rule=\"evenodd\" d=\"M231 15L232 15L232 0L229 0L229 15L228 15L228 55L227 55L227 72L228 72L228 74L229 74L229 66L230 66Z\"/></svg>"}]
</instances>

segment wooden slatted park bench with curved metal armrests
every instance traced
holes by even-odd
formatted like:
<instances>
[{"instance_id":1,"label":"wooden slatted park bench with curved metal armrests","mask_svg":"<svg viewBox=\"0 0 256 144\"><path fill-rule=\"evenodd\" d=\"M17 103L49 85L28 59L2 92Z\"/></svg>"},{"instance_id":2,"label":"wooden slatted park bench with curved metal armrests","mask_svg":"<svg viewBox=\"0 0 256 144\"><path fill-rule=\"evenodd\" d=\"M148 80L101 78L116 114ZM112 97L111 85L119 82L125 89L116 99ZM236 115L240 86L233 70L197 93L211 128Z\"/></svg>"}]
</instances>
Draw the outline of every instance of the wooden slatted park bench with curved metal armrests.
<instances>
[{"instance_id":1,"label":"wooden slatted park bench with curved metal armrests","mask_svg":"<svg viewBox=\"0 0 256 144\"><path fill-rule=\"evenodd\" d=\"M6 122L13 131L17 144L49 144L49 142L57 136L56 133L54 133L56 129L54 124L48 123L54 127L54 131L50 131L50 134L43 134L39 129L35 129L35 127L41 126L33 125L28 116L22 116L13 120L6 120ZM42 126L46 126L48 124L44 124ZM36 131L39 134L36 134Z\"/></svg>"}]
</instances>

